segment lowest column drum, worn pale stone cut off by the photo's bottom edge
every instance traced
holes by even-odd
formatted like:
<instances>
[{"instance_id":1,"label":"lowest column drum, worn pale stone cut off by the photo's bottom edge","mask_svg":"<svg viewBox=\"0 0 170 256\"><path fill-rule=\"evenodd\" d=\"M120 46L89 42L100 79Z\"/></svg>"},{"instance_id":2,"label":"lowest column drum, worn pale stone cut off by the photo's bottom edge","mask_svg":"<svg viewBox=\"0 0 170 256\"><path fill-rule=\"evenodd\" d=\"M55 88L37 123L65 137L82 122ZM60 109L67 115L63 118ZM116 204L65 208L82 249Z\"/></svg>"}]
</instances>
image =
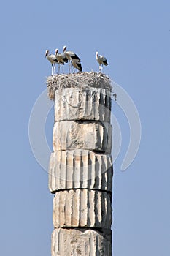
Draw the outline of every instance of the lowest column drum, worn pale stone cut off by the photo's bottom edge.
<instances>
[{"instance_id":1,"label":"lowest column drum, worn pale stone cut off by the photo's bottom edge","mask_svg":"<svg viewBox=\"0 0 170 256\"><path fill-rule=\"evenodd\" d=\"M52 256L112 256L110 230L62 229L52 234Z\"/></svg>"}]
</instances>

